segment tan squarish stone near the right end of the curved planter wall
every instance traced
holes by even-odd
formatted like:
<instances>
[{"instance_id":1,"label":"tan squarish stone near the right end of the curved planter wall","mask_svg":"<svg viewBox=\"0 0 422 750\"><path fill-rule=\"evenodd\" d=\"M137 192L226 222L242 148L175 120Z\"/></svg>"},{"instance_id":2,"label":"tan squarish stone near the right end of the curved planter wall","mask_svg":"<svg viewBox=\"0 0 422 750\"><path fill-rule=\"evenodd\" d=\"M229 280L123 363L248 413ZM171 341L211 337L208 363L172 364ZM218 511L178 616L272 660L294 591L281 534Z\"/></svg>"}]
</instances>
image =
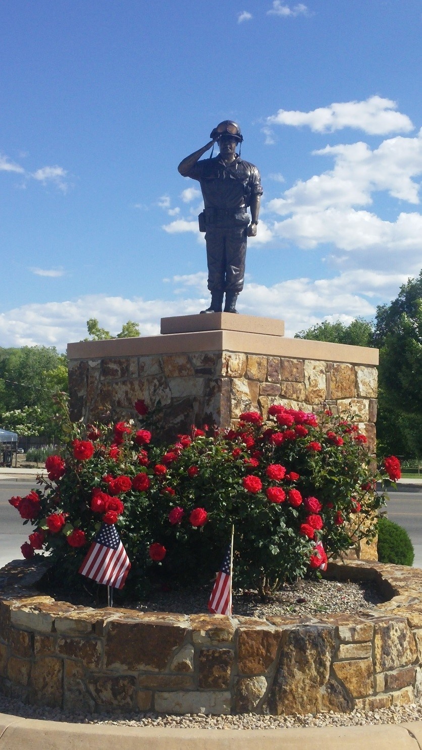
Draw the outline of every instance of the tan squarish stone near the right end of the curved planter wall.
<instances>
[{"instance_id":1,"label":"tan squarish stone near the right end of the curved planter wall","mask_svg":"<svg viewBox=\"0 0 422 750\"><path fill-rule=\"evenodd\" d=\"M375 624L376 672L412 664L418 657L415 639L406 620L385 619Z\"/></svg>"}]
</instances>

